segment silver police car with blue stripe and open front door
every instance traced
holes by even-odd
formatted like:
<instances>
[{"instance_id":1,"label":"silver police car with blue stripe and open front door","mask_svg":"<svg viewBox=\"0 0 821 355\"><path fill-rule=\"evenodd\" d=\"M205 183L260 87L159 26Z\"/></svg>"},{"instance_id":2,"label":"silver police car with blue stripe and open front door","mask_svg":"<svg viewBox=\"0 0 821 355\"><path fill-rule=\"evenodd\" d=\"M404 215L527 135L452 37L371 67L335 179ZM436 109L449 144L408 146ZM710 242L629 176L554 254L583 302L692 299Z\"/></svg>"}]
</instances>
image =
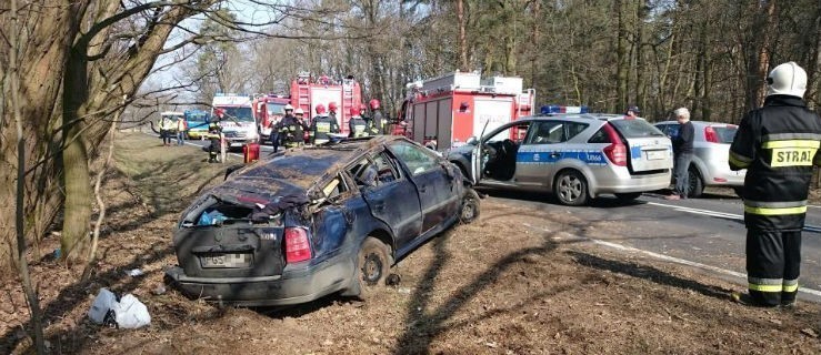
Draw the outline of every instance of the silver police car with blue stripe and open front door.
<instances>
[{"instance_id":1,"label":"silver police car with blue stripe and open front door","mask_svg":"<svg viewBox=\"0 0 821 355\"><path fill-rule=\"evenodd\" d=\"M478 185L544 191L567 205L634 200L667 187L673 166L667 135L615 114L523 118L445 154Z\"/></svg>"}]
</instances>

